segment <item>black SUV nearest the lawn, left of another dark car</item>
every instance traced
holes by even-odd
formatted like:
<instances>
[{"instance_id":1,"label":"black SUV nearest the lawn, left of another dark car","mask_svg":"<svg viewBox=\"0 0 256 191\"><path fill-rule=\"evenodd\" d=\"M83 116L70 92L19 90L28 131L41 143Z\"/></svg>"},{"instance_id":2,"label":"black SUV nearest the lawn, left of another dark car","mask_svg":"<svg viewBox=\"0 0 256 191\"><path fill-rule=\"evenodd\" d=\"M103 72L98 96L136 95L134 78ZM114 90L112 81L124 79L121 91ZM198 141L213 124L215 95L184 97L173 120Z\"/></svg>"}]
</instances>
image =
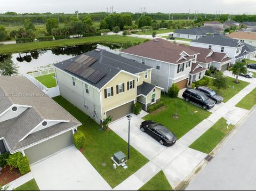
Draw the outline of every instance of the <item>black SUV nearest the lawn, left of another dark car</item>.
<instances>
[{"instance_id":1,"label":"black SUV nearest the lawn, left of another dark car","mask_svg":"<svg viewBox=\"0 0 256 191\"><path fill-rule=\"evenodd\" d=\"M212 99L197 89L187 88L182 97L185 98L186 102L191 101L201 105L204 110L212 109L212 107L215 105L215 102Z\"/></svg>"}]
</instances>

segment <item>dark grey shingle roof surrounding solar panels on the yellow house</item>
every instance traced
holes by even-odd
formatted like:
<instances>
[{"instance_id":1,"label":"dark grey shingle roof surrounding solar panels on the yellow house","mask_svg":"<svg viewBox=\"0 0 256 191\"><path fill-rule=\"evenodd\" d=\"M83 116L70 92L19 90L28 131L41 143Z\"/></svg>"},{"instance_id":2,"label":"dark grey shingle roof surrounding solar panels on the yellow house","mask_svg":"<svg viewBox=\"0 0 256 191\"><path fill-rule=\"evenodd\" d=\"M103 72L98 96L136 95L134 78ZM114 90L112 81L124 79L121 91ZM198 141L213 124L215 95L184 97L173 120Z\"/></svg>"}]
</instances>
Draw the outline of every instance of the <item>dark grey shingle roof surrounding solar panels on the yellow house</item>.
<instances>
[{"instance_id":1,"label":"dark grey shingle roof surrounding solar panels on the yellow house","mask_svg":"<svg viewBox=\"0 0 256 191\"><path fill-rule=\"evenodd\" d=\"M96 61L90 65L91 69L105 73L105 76L103 76L99 81L93 82L93 80L89 79L95 73L94 74L92 73L91 76L89 76L88 78L85 78L81 75L78 75L77 73L73 73L67 70L70 65L73 65L73 67L76 68L76 63L74 63L75 60L79 59L79 57L83 55L91 56L96 59ZM122 70L129 72L131 74L137 74L145 70L152 69L151 67L148 67L145 64L141 64L134 60L126 59L125 57L122 57L114 53L110 53L103 49L96 49L96 50L84 53L82 55L73 57L72 59L68 59L66 61L54 64L54 67L60 70L63 70L69 73L70 75L75 76L99 89L105 86L111 79L113 79L116 76L116 74L118 74ZM79 65L77 65L77 67L79 67ZM85 69L82 68L81 70L85 70ZM95 74L94 76L97 76L97 74Z\"/></svg>"}]
</instances>

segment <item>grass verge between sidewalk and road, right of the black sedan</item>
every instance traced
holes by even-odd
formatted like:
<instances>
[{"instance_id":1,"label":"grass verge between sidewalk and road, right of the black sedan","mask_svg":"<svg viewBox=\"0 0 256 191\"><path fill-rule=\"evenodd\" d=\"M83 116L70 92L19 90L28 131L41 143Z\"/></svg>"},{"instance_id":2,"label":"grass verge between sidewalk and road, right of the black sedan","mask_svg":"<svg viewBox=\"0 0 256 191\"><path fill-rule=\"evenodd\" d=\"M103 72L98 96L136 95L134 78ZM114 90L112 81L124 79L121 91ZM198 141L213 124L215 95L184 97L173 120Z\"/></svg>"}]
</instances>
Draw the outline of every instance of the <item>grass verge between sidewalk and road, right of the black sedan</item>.
<instances>
[{"instance_id":1,"label":"grass verge between sidewalk and road, right of the black sedan","mask_svg":"<svg viewBox=\"0 0 256 191\"><path fill-rule=\"evenodd\" d=\"M221 118L189 147L209 154L226 137L228 132L234 128L234 126L230 125L227 129L226 122L227 120Z\"/></svg>"}]
</instances>

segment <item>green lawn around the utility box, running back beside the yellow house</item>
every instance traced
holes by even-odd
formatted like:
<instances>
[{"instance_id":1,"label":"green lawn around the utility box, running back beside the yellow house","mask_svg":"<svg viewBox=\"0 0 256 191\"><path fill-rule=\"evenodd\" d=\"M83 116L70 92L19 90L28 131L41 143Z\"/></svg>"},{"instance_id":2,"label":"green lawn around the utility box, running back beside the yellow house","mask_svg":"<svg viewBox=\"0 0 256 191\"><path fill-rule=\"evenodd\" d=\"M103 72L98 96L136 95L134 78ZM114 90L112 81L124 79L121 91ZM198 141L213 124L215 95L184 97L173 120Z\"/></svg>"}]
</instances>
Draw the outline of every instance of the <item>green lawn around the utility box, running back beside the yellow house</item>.
<instances>
[{"instance_id":1,"label":"green lawn around the utility box, running back beside the yellow house","mask_svg":"<svg viewBox=\"0 0 256 191\"><path fill-rule=\"evenodd\" d=\"M98 123L94 122L93 119L77 109L73 104L70 104L63 97L58 96L53 99L83 123L78 128L86 137L83 154L111 187L114 188L120 184L148 162L146 157L133 147L130 147L130 160L126 163L128 168L118 167L113 169L114 162L110 157L118 151L122 151L127 155L127 143L116 135L115 132L101 130Z\"/></svg>"}]
</instances>

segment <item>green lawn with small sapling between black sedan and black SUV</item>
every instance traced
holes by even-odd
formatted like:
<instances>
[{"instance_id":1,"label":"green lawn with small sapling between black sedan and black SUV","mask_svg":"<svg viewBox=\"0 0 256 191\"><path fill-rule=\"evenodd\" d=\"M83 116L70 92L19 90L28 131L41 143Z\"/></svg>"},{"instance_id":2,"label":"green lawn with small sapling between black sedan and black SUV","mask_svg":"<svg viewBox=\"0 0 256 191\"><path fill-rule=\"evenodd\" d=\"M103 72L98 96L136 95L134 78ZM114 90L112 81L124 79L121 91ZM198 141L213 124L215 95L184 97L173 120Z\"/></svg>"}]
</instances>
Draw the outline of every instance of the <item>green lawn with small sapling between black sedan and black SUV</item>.
<instances>
[{"instance_id":1,"label":"green lawn with small sapling between black sedan and black SUV","mask_svg":"<svg viewBox=\"0 0 256 191\"><path fill-rule=\"evenodd\" d=\"M180 98L170 98L166 95L161 96L164 101L166 110L157 114L148 114L143 119L153 120L162 123L169 128L177 138L181 138L189 130L193 129L198 123L210 116L210 112L203 110L194 104L187 103ZM175 111L178 109L179 119L173 119Z\"/></svg>"}]
</instances>

